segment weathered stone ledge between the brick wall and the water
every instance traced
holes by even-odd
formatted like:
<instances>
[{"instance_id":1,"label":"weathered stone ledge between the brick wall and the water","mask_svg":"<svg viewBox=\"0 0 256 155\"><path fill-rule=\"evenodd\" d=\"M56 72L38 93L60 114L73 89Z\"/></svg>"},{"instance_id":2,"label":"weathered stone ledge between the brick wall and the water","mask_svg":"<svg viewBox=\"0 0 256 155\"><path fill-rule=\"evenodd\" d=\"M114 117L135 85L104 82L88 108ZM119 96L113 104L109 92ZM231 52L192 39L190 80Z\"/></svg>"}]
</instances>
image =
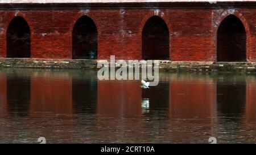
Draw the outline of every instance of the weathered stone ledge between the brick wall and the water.
<instances>
[{"instance_id":1,"label":"weathered stone ledge between the brick wall and the water","mask_svg":"<svg viewBox=\"0 0 256 155\"><path fill-rule=\"evenodd\" d=\"M97 68L92 59L0 58L0 67L23 68ZM126 61L127 62L127 61ZM108 61L109 63L109 61ZM110 66L110 65L109 65ZM127 67L130 67L127 62ZM254 62L172 62L159 61L159 70L189 72L256 72Z\"/></svg>"}]
</instances>

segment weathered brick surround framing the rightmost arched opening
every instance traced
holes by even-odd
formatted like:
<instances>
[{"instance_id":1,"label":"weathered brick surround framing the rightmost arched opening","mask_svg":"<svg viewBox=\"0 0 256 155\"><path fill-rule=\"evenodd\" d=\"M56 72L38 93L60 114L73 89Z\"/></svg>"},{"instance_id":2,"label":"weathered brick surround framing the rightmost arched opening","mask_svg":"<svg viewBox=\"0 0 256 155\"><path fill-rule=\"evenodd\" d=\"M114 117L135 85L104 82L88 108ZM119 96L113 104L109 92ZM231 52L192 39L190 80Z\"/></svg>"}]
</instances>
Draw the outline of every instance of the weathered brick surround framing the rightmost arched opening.
<instances>
[{"instance_id":1,"label":"weathered brick surround framing the rightmost arched opening","mask_svg":"<svg viewBox=\"0 0 256 155\"><path fill-rule=\"evenodd\" d=\"M246 61L248 61L250 59L250 49L249 49L249 42L250 42L250 27L249 24L247 23L246 18L242 15L242 13L238 10L234 10L234 11L229 11L229 10L225 10L224 12L221 13L220 15L220 20L218 20L218 22L216 23L216 29L215 29L215 40L216 40L216 61L217 61L217 37L218 37L218 29L220 28L220 25L222 23L222 21L224 21L228 16L230 15L234 15L236 16L236 18L240 19L240 21L243 24L243 27L245 28L245 32L246 32Z\"/></svg>"}]
</instances>

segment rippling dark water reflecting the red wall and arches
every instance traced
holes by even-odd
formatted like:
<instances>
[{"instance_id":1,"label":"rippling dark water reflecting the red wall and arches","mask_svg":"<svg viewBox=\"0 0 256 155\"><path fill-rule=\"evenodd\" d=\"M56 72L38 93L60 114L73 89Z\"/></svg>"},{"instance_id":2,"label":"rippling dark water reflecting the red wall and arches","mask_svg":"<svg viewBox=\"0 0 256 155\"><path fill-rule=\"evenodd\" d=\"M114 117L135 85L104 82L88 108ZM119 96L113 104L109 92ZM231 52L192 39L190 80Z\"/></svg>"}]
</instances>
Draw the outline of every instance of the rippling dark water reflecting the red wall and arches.
<instances>
[{"instance_id":1,"label":"rippling dark water reflecting the red wall and arches","mask_svg":"<svg viewBox=\"0 0 256 155\"><path fill-rule=\"evenodd\" d=\"M160 73L160 83L96 71L0 70L0 143L255 143L254 75Z\"/></svg>"}]
</instances>

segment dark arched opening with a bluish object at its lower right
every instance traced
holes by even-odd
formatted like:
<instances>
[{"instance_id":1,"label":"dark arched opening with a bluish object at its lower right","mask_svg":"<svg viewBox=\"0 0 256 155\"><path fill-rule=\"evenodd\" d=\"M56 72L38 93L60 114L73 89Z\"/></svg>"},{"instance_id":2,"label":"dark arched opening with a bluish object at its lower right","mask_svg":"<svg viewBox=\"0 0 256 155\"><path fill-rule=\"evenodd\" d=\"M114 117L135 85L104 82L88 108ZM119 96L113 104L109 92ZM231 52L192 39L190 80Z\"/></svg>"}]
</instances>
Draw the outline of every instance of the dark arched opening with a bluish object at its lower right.
<instances>
[{"instance_id":1,"label":"dark arched opening with a bluish object at its lower right","mask_svg":"<svg viewBox=\"0 0 256 155\"><path fill-rule=\"evenodd\" d=\"M88 16L82 16L76 21L72 32L73 59L97 58L97 50L97 27ZM91 51L94 56L90 55Z\"/></svg>"}]
</instances>

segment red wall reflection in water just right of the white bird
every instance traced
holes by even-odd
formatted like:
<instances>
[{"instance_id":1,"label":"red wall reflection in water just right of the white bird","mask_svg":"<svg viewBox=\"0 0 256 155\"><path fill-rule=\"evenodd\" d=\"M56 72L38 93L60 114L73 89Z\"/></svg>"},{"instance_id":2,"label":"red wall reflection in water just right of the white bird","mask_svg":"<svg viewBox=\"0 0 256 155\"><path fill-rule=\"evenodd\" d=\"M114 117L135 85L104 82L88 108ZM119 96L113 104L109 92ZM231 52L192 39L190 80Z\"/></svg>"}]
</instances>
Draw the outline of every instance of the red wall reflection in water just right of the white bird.
<instances>
[{"instance_id":1,"label":"red wall reflection in water just right of the white bird","mask_svg":"<svg viewBox=\"0 0 256 155\"><path fill-rule=\"evenodd\" d=\"M216 85L209 76L173 75L170 82L170 117L209 118L216 110Z\"/></svg>"}]
</instances>

